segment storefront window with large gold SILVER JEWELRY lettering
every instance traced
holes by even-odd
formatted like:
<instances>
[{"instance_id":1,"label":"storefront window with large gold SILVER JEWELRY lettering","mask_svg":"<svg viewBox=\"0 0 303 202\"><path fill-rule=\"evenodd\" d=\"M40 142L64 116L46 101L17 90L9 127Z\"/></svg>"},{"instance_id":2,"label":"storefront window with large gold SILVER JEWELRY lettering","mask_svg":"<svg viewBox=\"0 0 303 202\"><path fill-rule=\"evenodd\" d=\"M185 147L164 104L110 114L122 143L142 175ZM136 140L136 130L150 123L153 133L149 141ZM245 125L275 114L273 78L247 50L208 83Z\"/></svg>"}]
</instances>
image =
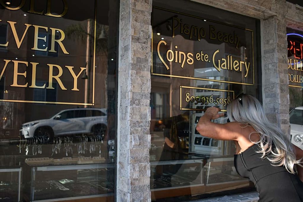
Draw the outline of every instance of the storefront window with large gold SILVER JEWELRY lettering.
<instances>
[{"instance_id":1,"label":"storefront window with large gold SILVER JEWELRY lettering","mask_svg":"<svg viewBox=\"0 0 303 202\"><path fill-rule=\"evenodd\" d=\"M1 200L114 200L118 7L0 1Z\"/></svg>"}]
</instances>

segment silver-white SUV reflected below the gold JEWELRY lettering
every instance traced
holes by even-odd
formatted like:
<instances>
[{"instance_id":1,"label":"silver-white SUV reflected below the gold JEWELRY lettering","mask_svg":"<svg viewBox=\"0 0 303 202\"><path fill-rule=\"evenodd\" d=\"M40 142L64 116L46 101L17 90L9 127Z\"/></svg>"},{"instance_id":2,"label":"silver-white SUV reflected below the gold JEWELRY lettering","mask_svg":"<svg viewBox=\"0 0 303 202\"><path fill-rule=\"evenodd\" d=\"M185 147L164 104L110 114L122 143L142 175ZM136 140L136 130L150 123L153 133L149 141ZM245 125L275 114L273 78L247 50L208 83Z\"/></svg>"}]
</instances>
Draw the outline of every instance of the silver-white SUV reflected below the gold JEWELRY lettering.
<instances>
[{"instance_id":1,"label":"silver-white SUV reflected below the gold JEWELRY lettering","mask_svg":"<svg viewBox=\"0 0 303 202\"><path fill-rule=\"evenodd\" d=\"M54 136L69 134L103 135L106 126L106 109L78 108L60 111L49 119L24 123L19 131L22 137L42 136L49 141Z\"/></svg>"}]
</instances>

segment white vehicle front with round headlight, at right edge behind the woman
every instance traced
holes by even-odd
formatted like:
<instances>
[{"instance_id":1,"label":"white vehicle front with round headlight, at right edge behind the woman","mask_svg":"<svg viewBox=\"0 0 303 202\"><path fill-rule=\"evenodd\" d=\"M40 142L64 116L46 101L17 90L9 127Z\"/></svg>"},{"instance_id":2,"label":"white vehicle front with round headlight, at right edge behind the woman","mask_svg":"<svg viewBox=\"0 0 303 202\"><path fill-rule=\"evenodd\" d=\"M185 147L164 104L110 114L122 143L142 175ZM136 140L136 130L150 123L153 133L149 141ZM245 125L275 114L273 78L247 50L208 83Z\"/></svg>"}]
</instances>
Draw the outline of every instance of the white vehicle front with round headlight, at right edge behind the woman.
<instances>
[{"instance_id":1,"label":"white vehicle front with round headlight, at right edge behind the woman","mask_svg":"<svg viewBox=\"0 0 303 202\"><path fill-rule=\"evenodd\" d=\"M291 143L303 150L303 107L297 107L290 111L289 122Z\"/></svg>"}]
</instances>

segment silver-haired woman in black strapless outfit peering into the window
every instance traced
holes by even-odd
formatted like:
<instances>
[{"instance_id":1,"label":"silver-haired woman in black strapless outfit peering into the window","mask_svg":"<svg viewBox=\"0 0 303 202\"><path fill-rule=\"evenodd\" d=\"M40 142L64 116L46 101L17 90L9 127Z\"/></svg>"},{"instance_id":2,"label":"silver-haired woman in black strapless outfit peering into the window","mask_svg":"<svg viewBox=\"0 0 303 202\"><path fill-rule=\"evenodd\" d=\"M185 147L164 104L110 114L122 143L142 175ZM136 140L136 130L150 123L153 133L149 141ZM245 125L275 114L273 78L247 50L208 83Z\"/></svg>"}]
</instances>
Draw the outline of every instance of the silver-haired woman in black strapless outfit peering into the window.
<instances>
[{"instance_id":1,"label":"silver-haired woman in black strapless outfit peering into the window","mask_svg":"<svg viewBox=\"0 0 303 202\"><path fill-rule=\"evenodd\" d=\"M227 106L230 122L212 123L224 116L220 111L208 108L196 129L203 136L235 142L235 168L240 176L254 182L259 201L303 201L303 151L269 122L261 103L240 94Z\"/></svg>"}]
</instances>

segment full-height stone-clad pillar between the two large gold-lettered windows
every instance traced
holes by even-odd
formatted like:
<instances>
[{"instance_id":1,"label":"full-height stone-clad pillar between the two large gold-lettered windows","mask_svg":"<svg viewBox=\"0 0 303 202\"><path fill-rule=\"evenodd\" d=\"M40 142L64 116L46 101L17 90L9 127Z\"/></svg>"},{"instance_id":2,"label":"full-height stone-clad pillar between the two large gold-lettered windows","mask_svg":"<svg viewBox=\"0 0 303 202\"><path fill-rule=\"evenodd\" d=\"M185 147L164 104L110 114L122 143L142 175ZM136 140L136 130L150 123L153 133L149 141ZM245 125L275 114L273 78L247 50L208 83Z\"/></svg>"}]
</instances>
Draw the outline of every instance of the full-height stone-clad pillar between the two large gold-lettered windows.
<instances>
[{"instance_id":1,"label":"full-height stone-clad pillar between the two large gold-lettered windows","mask_svg":"<svg viewBox=\"0 0 303 202\"><path fill-rule=\"evenodd\" d=\"M120 1L117 201L151 201L152 0Z\"/></svg>"}]
</instances>

